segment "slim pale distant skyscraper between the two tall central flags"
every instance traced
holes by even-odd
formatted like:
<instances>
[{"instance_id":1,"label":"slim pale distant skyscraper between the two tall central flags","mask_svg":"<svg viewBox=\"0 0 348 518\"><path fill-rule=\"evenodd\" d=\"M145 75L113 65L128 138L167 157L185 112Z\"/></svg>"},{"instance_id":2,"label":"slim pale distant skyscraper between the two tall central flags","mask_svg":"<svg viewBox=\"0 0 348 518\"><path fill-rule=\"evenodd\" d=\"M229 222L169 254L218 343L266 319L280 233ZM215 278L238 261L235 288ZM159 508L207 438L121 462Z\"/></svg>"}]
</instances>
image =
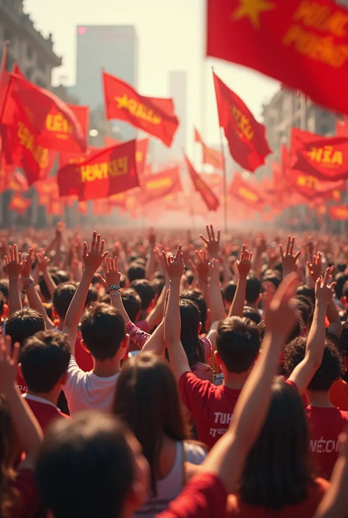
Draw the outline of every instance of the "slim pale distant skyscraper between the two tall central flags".
<instances>
[{"instance_id":1,"label":"slim pale distant skyscraper between the two tall central flags","mask_svg":"<svg viewBox=\"0 0 348 518\"><path fill-rule=\"evenodd\" d=\"M169 72L169 97L175 104L175 111L180 125L175 134L170 155L182 158L182 150L186 147L186 121L187 121L187 73L184 70L172 70Z\"/></svg>"}]
</instances>

